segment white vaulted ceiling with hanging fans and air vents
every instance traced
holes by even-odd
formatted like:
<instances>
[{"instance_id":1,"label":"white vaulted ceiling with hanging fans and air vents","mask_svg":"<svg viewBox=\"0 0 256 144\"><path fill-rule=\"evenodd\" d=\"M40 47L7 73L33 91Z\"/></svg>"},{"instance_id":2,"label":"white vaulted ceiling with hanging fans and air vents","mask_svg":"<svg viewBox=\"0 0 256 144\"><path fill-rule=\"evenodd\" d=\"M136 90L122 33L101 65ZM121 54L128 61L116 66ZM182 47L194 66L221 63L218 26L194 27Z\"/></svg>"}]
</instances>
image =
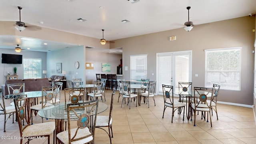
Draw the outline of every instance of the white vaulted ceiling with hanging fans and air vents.
<instances>
[{"instance_id":1,"label":"white vaulted ceiling with hanging fans and air vents","mask_svg":"<svg viewBox=\"0 0 256 144\"><path fill-rule=\"evenodd\" d=\"M0 0L0 20L19 21L17 6L21 6L21 21L34 25L36 30L45 27L101 39L104 29L106 40L116 40L182 28L184 22L188 21L187 6L191 6L193 29L199 24L256 13L256 0L140 0L133 4L131 1ZM80 22L78 18L86 21ZM122 20L130 22L123 23ZM0 38L1 48L11 48L17 44L17 36ZM3 43L6 40L8 44ZM38 44L38 51L44 46L42 40L35 43Z\"/></svg>"}]
</instances>

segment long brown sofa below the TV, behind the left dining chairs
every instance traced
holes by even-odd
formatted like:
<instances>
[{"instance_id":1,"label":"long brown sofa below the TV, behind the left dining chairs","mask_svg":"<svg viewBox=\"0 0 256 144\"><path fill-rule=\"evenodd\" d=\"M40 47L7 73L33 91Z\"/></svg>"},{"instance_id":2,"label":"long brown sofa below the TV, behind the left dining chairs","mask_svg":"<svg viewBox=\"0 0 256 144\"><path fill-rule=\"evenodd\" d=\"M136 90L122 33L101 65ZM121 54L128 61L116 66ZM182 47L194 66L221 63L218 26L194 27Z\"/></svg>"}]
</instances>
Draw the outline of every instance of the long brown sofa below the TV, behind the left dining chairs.
<instances>
[{"instance_id":1,"label":"long brown sofa below the TV, behind the left dining chairs","mask_svg":"<svg viewBox=\"0 0 256 144\"><path fill-rule=\"evenodd\" d=\"M7 84L20 84L20 83L25 83L25 92L41 91L42 86L50 86L48 78L5 80L5 83L1 85L2 95L5 96L8 94Z\"/></svg>"}]
</instances>

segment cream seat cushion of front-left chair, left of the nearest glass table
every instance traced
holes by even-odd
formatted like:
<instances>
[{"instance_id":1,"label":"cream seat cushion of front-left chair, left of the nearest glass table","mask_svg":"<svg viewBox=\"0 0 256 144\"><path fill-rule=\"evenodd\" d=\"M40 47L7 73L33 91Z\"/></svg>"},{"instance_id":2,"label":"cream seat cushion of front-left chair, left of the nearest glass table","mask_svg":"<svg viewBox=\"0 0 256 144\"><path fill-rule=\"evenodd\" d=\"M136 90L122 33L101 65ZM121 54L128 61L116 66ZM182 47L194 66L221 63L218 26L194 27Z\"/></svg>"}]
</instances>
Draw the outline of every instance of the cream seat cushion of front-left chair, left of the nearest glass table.
<instances>
[{"instance_id":1,"label":"cream seat cushion of front-left chair, left of the nearest glass table","mask_svg":"<svg viewBox=\"0 0 256 144\"><path fill-rule=\"evenodd\" d=\"M33 124L26 127L23 132L22 136L44 136L53 134L55 130L55 122L44 122L39 124Z\"/></svg>"}]
</instances>

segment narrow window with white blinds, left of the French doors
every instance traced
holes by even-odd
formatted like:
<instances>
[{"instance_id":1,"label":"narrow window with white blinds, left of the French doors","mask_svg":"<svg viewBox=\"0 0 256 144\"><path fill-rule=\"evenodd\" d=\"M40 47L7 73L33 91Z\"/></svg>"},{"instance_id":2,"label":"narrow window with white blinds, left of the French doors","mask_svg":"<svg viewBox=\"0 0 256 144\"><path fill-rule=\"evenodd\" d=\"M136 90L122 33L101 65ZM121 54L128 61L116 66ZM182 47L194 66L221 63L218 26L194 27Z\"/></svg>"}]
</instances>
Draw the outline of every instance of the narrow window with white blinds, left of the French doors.
<instances>
[{"instance_id":1,"label":"narrow window with white blinds, left of the French doors","mask_svg":"<svg viewBox=\"0 0 256 144\"><path fill-rule=\"evenodd\" d=\"M130 78L131 80L138 80L147 78L148 55L133 55L130 56Z\"/></svg>"}]
</instances>

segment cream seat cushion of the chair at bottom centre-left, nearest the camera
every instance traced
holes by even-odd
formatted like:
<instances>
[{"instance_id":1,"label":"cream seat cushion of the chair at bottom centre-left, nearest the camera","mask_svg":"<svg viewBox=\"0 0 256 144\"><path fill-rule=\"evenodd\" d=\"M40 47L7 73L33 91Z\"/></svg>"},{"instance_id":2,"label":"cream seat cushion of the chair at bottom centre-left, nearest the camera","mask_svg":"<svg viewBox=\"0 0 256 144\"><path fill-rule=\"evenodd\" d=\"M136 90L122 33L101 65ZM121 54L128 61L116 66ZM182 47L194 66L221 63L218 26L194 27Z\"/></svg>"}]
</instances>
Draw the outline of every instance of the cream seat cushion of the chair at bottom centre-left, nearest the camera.
<instances>
[{"instance_id":1,"label":"cream seat cushion of the chair at bottom centre-left, nearest the camera","mask_svg":"<svg viewBox=\"0 0 256 144\"><path fill-rule=\"evenodd\" d=\"M70 129L70 136L71 138L75 135L77 128ZM75 138L81 138L83 136L91 134L88 128L79 129ZM57 138L60 139L64 144L68 144L68 130L60 132L57 134ZM86 144L93 140L92 136L89 136L88 138L84 138L82 140L77 140L74 142L71 142L71 144Z\"/></svg>"}]
</instances>

